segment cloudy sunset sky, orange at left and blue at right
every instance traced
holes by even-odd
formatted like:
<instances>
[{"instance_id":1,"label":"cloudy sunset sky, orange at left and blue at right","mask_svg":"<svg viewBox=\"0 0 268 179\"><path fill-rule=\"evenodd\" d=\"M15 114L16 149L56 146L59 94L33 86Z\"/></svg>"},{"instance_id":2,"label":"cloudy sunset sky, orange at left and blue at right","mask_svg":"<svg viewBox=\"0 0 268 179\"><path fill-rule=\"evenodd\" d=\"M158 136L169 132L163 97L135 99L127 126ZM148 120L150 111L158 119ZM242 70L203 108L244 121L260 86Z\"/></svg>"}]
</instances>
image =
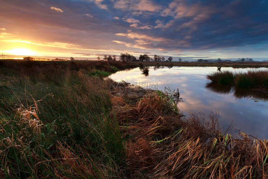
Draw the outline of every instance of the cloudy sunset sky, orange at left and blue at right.
<instances>
[{"instance_id":1,"label":"cloudy sunset sky, orange at left and blue at right","mask_svg":"<svg viewBox=\"0 0 268 179\"><path fill-rule=\"evenodd\" d=\"M0 53L268 59L266 0L0 0ZM1 59L1 57L0 57Z\"/></svg>"}]
</instances>

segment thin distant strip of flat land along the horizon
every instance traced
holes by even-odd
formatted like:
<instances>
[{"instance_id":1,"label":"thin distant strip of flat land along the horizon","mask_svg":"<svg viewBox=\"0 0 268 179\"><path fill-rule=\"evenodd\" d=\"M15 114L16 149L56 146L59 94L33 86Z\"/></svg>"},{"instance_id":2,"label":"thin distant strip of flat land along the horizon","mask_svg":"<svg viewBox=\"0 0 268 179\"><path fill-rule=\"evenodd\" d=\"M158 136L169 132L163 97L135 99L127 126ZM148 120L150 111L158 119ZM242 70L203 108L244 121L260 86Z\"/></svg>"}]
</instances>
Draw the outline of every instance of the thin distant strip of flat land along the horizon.
<instances>
[{"instance_id":1,"label":"thin distant strip of flat land along the horizon","mask_svg":"<svg viewBox=\"0 0 268 179\"><path fill-rule=\"evenodd\" d=\"M23 60L0 60L0 66L13 66L15 64L60 64L67 67L72 64L73 70L81 68L97 68L99 70L109 71L109 66L117 67L119 70L136 67L233 67L233 68L260 68L268 67L268 62L120 62L120 61L23 61ZM112 71L113 72L113 71Z\"/></svg>"}]
</instances>

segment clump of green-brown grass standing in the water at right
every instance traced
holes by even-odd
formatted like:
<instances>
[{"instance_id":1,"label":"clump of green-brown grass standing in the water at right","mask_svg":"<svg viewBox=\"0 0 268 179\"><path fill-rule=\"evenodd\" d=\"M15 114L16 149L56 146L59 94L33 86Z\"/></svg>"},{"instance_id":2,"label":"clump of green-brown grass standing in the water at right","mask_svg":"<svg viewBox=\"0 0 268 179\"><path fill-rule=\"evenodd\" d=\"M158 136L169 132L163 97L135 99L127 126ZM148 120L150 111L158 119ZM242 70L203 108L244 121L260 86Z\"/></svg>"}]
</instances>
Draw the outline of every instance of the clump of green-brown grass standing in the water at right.
<instances>
[{"instance_id":1,"label":"clump of green-brown grass standing in the water at right","mask_svg":"<svg viewBox=\"0 0 268 179\"><path fill-rule=\"evenodd\" d=\"M268 70L248 70L247 72L217 71L207 75L212 82L234 84L236 87L268 89Z\"/></svg>"}]
</instances>

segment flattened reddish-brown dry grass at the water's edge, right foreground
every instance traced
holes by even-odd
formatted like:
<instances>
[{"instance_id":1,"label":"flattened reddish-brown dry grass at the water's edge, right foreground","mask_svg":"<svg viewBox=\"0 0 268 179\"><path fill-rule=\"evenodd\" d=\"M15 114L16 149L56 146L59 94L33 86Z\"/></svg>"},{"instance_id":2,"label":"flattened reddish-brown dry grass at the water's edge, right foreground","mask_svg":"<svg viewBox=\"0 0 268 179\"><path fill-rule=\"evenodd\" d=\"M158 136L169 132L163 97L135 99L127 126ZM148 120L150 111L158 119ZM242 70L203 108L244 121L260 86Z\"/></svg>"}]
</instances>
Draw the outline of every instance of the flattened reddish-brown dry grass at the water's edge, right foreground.
<instances>
[{"instance_id":1,"label":"flattened reddish-brown dry grass at the water's edge, right foreground","mask_svg":"<svg viewBox=\"0 0 268 179\"><path fill-rule=\"evenodd\" d=\"M133 178L268 177L267 141L221 134L218 113L183 118L165 93L149 94L115 108Z\"/></svg>"}]
</instances>

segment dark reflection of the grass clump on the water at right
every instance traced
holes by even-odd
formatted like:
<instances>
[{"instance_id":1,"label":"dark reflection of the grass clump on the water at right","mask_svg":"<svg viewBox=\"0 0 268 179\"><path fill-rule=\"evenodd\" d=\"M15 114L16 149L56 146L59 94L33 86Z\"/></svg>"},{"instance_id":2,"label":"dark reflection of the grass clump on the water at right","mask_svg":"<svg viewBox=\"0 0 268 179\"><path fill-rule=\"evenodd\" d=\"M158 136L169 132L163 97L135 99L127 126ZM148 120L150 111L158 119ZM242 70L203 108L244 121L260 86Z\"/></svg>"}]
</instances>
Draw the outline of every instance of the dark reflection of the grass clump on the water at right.
<instances>
[{"instance_id":1,"label":"dark reflection of the grass clump on the water at right","mask_svg":"<svg viewBox=\"0 0 268 179\"><path fill-rule=\"evenodd\" d=\"M262 100L267 102L268 93L260 92L248 88L232 87L230 84L219 84L219 83L207 83L205 86L209 92L217 94L231 94L235 99L253 99L255 101Z\"/></svg>"}]
</instances>

